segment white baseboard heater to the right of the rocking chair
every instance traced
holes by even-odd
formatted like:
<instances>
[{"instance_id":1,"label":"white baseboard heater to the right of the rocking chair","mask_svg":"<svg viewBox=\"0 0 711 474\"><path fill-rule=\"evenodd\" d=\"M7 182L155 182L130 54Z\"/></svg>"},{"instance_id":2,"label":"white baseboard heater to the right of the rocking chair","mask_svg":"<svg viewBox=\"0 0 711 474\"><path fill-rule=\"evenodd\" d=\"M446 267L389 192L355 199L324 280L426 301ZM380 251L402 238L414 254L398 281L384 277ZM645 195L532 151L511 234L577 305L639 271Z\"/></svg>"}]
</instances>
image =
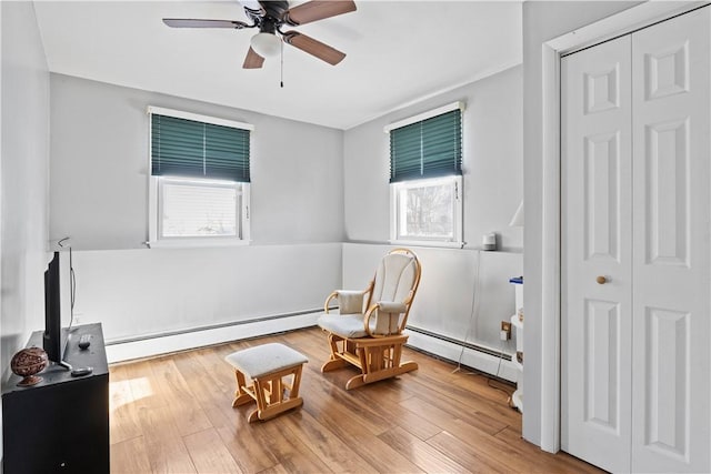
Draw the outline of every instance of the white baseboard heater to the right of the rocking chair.
<instances>
[{"instance_id":1,"label":"white baseboard heater to the right of the rocking chair","mask_svg":"<svg viewBox=\"0 0 711 474\"><path fill-rule=\"evenodd\" d=\"M449 341L444 341L438 337L432 337L427 334L422 334L414 331L408 331L408 345L419 349L430 354L453 361L461 362L462 365L477 369L478 371L485 372L491 375L497 375L500 379L508 380L509 382L518 382L519 371L511 361L497 357L495 355L487 354L473 349L464 347ZM460 359L461 357L461 359ZM498 373L497 373L498 372Z\"/></svg>"}]
</instances>

